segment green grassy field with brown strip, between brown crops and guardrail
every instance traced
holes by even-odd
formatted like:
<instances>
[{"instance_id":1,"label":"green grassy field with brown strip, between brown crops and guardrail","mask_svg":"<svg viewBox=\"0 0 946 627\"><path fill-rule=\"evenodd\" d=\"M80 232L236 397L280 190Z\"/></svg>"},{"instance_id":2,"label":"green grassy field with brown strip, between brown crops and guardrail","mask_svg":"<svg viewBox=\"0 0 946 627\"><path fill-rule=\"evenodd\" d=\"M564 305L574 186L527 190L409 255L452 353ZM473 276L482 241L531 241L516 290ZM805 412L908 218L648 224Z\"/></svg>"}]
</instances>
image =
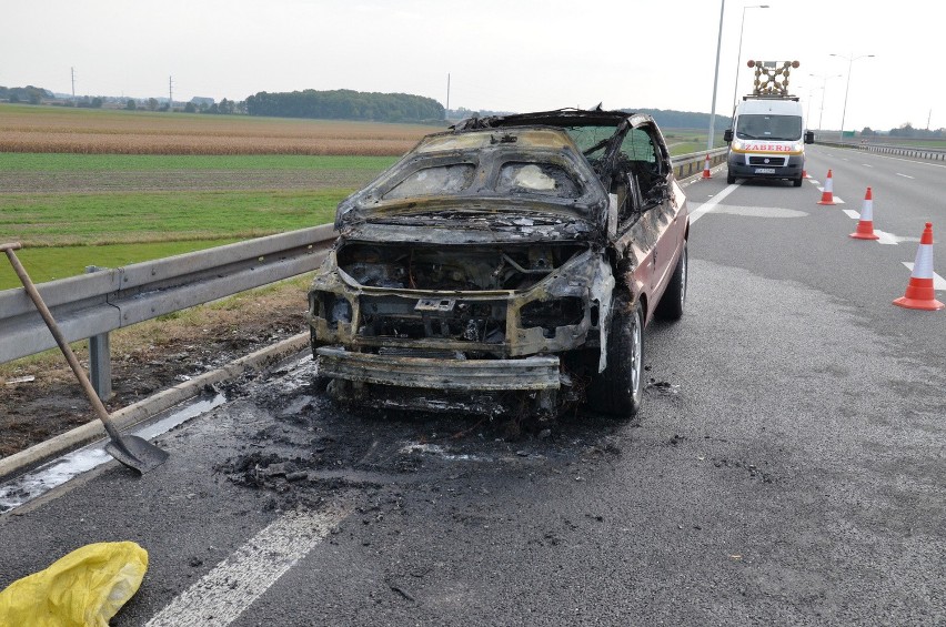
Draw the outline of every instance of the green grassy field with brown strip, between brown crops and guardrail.
<instances>
[{"instance_id":1,"label":"green grassy field with brown strip, between brown crops and guardrail","mask_svg":"<svg viewBox=\"0 0 946 627\"><path fill-rule=\"evenodd\" d=\"M0 153L0 240L23 244L18 256L33 281L63 279L89 265L118 267L329 223L339 201L395 160ZM272 184L232 189L248 176ZM211 189L173 189L182 179ZM169 189L134 190L142 184ZM0 290L19 285L0 260Z\"/></svg>"}]
</instances>

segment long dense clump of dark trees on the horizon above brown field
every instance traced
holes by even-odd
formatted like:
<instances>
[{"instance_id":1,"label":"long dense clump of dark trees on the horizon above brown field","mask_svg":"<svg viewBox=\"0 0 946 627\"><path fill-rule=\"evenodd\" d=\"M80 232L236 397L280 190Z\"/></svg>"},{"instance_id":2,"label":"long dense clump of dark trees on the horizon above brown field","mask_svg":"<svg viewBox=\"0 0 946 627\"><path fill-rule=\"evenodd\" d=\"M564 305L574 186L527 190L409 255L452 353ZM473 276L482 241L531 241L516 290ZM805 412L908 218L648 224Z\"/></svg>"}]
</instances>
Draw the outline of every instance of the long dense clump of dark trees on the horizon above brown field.
<instances>
[{"instance_id":1,"label":"long dense clump of dark trees on the horizon above brown field","mask_svg":"<svg viewBox=\"0 0 946 627\"><path fill-rule=\"evenodd\" d=\"M250 115L364 120L374 122L427 122L444 119L443 105L432 98L407 93L360 92L348 89L269 93L246 98Z\"/></svg>"}]
</instances>

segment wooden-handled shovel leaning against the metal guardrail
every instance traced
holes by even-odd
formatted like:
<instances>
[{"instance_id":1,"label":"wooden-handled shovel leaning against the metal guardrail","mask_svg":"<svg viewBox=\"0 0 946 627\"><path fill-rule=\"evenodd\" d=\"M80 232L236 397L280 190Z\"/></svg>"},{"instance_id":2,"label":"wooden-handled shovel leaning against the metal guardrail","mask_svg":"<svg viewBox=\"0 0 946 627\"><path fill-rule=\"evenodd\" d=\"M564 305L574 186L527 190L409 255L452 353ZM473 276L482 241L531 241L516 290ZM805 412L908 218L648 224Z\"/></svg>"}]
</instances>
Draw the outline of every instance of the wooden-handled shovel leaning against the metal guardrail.
<instances>
[{"instance_id":1,"label":"wooden-handled shovel leaning against the metal guardrail","mask_svg":"<svg viewBox=\"0 0 946 627\"><path fill-rule=\"evenodd\" d=\"M115 428L114 423L112 423L112 419L109 416L109 412L105 409L105 406L102 404L102 401L99 398L99 395L89 382L85 371L83 371L82 366L79 365L79 360L76 358L76 353L72 352L72 348L70 348L69 344L66 342L66 337L63 337L62 332L59 330L59 326L57 326L56 321L52 317L52 314L42 301L39 292L37 292L33 282L27 274L27 270L13 253L13 251L21 247L22 246L19 242L14 242L12 244L0 244L0 251L7 253L7 256L10 257L10 263L17 272L17 276L19 276L20 281L23 283L27 294L30 295L30 299L33 301L33 304L36 304L43 321L46 321L46 325L56 338L56 343L59 344L60 351L62 351L62 354L66 355L66 361L69 362L69 367L72 368L72 372L76 373L76 376L79 378L79 383L82 384L82 390L85 392L85 396L89 397L92 408L95 409L95 414L98 414L99 419L102 421L102 424L105 426L105 431L108 432L109 437L111 437L111 441L105 444L105 452L129 468L135 469L139 473L147 473L151 468L163 464L168 458L168 453L165 451L158 448L147 439L138 437L137 435L122 436L118 428Z\"/></svg>"}]
</instances>

